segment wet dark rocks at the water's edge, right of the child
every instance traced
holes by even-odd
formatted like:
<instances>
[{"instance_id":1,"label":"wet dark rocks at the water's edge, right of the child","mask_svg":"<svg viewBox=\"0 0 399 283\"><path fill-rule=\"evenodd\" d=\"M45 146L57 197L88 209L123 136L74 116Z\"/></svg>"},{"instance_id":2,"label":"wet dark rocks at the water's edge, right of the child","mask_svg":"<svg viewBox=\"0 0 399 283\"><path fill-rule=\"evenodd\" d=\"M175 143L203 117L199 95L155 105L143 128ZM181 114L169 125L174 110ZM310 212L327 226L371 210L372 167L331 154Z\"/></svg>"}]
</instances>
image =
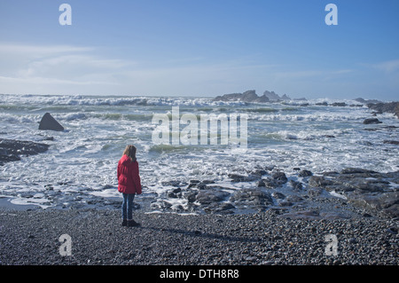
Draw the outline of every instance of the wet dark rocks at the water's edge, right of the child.
<instances>
[{"instance_id":1,"label":"wet dark rocks at the water's edge, right of the child","mask_svg":"<svg viewBox=\"0 0 399 283\"><path fill-rule=\"evenodd\" d=\"M348 168L314 174L306 169L287 177L274 168L229 174L232 190L213 180L167 182L170 189L151 203L163 212L246 214L274 210L281 216L311 219L399 217L399 171L379 173ZM305 212L305 213L304 213Z\"/></svg>"}]
</instances>

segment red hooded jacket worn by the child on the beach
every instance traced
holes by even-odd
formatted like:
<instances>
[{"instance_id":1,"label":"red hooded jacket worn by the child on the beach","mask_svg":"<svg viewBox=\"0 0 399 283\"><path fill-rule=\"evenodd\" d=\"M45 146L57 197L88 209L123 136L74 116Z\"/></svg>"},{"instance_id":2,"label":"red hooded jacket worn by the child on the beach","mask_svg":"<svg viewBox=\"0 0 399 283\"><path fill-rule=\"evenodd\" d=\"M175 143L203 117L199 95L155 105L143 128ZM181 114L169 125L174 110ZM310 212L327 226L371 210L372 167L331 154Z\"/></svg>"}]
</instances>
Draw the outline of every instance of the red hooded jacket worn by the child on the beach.
<instances>
[{"instance_id":1,"label":"red hooded jacket worn by the child on the beach","mask_svg":"<svg viewBox=\"0 0 399 283\"><path fill-rule=\"evenodd\" d=\"M118 191L120 193L141 193L141 181L137 161L130 161L128 155L123 155L118 162L117 174Z\"/></svg>"}]
</instances>

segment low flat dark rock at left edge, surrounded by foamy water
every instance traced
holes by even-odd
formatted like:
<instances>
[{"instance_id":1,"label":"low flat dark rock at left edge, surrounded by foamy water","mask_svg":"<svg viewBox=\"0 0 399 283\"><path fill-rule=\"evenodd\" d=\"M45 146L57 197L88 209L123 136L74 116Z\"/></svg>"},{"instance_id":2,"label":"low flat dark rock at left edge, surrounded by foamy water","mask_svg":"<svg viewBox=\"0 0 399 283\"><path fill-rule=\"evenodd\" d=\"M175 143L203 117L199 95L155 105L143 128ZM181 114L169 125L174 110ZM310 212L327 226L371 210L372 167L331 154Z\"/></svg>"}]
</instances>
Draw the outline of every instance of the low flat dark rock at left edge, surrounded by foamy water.
<instances>
[{"instance_id":1,"label":"low flat dark rock at left edge, surrounded by foamy water","mask_svg":"<svg viewBox=\"0 0 399 283\"><path fill-rule=\"evenodd\" d=\"M6 162L20 161L21 156L44 153L50 145L0 138L0 166Z\"/></svg>"}]
</instances>

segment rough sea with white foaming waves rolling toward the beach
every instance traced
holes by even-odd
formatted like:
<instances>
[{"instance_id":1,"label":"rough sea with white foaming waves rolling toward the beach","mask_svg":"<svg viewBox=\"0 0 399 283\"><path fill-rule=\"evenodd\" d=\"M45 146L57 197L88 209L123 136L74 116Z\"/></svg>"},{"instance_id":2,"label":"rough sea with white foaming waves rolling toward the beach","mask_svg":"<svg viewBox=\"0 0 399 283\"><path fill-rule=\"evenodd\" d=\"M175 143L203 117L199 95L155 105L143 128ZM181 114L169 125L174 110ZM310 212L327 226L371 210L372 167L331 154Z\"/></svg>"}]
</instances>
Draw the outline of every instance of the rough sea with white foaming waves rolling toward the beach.
<instances>
[{"instance_id":1,"label":"rough sea with white foaming waves rolling toward the beach","mask_svg":"<svg viewBox=\"0 0 399 283\"><path fill-rule=\"evenodd\" d=\"M201 114L246 117L245 150L222 144L226 130L222 123L217 144L160 144L154 133L161 122L154 122L154 117L170 118L170 127L162 128L170 130L170 137L188 125L177 119L178 129L172 129L176 108L179 117L198 117L192 126L199 128ZM386 142L398 140L399 120L394 114L378 114L382 123L364 124L372 110L351 99L246 103L190 97L2 94L0 109L0 138L50 145L45 153L22 156L0 167L0 198L18 205L68 208L87 204L91 197L121 200L116 166L126 145L137 147L141 197L152 201L183 201L166 196L174 182L212 180L230 190L251 187L251 182L232 184L229 176L256 169L278 169L288 178L297 176L299 169L314 174L345 168L399 169L399 147ZM65 130L38 130L45 113Z\"/></svg>"}]
</instances>

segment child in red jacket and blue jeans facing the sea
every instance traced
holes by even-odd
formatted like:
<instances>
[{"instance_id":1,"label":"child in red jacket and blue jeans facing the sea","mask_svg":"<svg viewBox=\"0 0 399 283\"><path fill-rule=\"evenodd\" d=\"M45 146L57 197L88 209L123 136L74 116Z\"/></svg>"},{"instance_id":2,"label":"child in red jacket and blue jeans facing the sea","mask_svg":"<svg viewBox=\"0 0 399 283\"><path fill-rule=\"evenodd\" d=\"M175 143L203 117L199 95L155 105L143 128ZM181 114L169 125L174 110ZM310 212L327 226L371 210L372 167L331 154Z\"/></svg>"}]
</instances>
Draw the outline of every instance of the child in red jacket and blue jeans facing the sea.
<instances>
[{"instance_id":1,"label":"child in red jacket and blue jeans facing the sea","mask_svg":"<svg viewBox=\"0 0 399 283\"><path fill-rule=\"evenodd\" d=\"M133 220L133 200L141 194L141 181L136 160L136 147L128 145L118 162L118 191L123 195L121 206L122 226L138 226Z\"/></svg>"}]
</instances>

